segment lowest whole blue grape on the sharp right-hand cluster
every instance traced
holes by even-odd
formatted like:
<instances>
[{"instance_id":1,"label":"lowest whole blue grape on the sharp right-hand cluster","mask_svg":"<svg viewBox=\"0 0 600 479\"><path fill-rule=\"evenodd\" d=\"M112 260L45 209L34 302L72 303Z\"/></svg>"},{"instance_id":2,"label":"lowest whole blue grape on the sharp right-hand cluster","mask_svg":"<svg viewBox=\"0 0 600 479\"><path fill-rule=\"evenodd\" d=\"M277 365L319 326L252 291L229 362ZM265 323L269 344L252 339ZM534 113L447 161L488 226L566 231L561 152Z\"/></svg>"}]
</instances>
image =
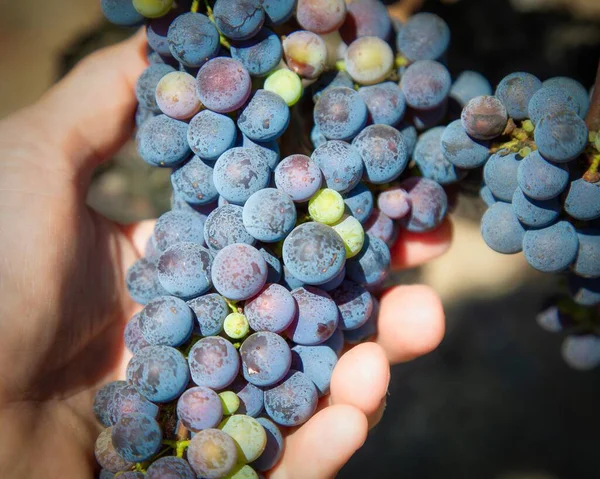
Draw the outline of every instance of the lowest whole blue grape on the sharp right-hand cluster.
<instances>
[{"instance_id":1,"label":"lowest whole blue grape on the sharp right-hand cluster","mask_svg":"<svg viewBox=\"0 0 600 479\"><path fill-rule=\"evenodd\" d=\"M568 268L577 257L578 248L577 232L567 221L526 231L523 237L525 259L535 269L545 273Z\"/></svg>"}]
</instances>

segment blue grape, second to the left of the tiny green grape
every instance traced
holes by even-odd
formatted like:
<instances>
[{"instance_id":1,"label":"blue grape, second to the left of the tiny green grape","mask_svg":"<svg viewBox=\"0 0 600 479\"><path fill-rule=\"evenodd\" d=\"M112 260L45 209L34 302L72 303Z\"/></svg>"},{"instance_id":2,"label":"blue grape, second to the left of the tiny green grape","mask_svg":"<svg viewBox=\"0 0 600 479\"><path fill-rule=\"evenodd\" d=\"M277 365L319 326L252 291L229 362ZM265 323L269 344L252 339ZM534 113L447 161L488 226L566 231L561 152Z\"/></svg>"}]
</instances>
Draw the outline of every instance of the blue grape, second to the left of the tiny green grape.
<instances>
[{"instance_id":1,"label":"blue grape, second to the left of the tiny green grape","mask_svg":"<svg viewBox=\"0 0 600 479\"><path fill-rule=\"evenodd\" d=\"M192 335L192 310L173 296L159 296L140 313L142 335L148 343L177 347Z\"/></svg>"}]
</instances>

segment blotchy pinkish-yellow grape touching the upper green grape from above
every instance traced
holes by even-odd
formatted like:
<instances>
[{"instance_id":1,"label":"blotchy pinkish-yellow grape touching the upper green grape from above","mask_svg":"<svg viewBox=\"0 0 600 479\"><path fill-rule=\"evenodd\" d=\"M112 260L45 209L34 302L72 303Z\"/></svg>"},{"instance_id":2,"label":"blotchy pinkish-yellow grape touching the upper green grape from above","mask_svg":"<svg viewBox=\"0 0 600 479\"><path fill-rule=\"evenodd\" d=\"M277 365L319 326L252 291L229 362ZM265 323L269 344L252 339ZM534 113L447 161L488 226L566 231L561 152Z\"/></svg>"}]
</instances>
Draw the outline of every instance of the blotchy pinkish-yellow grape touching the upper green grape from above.
<instances>
[{"instance_id":1,"label":"blotchy pinkish-yellow grape touching the upper green grape from above","mask_svg":"<svg viewBox=\"0 0 600 479\"><path fill-rule=\"evenodd\" d=\"M303 78L318 78L325 70L327 46L312 32L300 30L283 40L283 55L290 70Z\"/></svg>"}]
</instances>

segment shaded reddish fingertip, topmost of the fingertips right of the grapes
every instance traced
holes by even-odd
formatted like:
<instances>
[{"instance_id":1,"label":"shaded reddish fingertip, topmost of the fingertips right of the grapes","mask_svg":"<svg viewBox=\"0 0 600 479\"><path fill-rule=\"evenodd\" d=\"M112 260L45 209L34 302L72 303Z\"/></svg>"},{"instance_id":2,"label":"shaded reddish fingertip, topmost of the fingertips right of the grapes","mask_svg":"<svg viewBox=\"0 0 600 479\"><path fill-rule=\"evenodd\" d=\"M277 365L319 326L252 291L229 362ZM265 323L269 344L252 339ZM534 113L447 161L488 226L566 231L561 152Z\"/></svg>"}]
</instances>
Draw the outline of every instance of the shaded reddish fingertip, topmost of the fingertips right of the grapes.
<instances>
[{"instance_id":1,"label":"shaded reddish fingertip, topmost of the fingertips right of the grapes","mask_svg":"<svg viewBox=\"0 0 600 479\"><path fill-rule=\"evenodd\" d=\"M412 268L444 254L452 241L452 223L449 218L428 233L402 230L398 241L390 248L392 267Z\"/></svg>"}]
</instances>

